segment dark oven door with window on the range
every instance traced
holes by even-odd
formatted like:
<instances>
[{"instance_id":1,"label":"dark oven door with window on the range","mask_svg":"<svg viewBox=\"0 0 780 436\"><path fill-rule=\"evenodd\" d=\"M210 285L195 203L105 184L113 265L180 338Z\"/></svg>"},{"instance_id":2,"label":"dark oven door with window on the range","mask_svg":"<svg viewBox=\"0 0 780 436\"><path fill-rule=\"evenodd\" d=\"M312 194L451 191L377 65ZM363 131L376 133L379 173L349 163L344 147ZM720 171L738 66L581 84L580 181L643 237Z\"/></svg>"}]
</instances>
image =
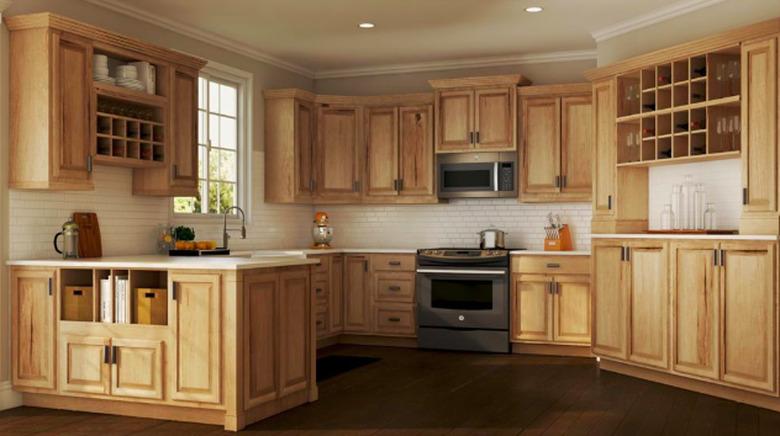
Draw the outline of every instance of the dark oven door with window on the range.
<instances>
[{"instance_id":1,"label":"dark oven door with window on the range","mask_svg":"<svg viewBox=\"0 0 780 436\"><path fill-rule=\"evenodd\" d=\"M420 327L508 329L507 270L419 268L417 322Z\"/></svg>"}]
</instances>

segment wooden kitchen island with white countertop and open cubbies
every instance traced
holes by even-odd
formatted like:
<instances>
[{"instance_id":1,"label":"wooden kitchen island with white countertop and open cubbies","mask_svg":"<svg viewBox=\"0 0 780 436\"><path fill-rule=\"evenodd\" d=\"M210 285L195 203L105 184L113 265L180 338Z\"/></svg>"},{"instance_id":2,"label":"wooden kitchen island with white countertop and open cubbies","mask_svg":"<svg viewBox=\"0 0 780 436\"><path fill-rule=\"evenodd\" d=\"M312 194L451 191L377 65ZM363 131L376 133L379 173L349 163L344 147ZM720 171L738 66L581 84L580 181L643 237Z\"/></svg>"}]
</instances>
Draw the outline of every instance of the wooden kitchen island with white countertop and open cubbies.
<instances>
[{"instance_id":1,"label":"wooden kitchen island with white countertop and open cubbies","mask_svg":"<svg viewBox=\"0 0 780 436\"><path fill-rule=\"evenodd\" d=\"M315 401L310 270L318 263L159 255L10 261L13 387L29 406L234 431ZM121 301L116 291L127 304L101 301Z\"/></svg>"}]
</instances>

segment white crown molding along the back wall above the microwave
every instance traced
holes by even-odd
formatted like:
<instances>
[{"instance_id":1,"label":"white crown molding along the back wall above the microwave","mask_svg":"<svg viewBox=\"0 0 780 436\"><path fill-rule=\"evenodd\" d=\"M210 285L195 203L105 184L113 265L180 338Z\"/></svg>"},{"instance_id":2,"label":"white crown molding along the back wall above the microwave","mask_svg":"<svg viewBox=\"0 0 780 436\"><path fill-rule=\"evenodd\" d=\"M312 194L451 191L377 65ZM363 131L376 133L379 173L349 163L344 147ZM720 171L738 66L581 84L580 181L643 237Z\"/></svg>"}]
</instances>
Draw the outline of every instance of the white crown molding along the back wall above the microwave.
<instances>
[{"instance_id":1,"label":"white crown molding along the back wall above the microwave","mask_svg":"<svg viewBox=\"0 0 780 436\"><path fill-rule=\"evenodd\" d=\"M596 59L595 50L559 51L515 56L495 56L451 61L419 62L409 64L379 65L365 68L345 68L319 71L315 79L336 79L344 77L378 76L383 74L419 73L425 71L458 70L463 68L500 67L549 62L569 62Z\"/></svg>"}]
</instances>

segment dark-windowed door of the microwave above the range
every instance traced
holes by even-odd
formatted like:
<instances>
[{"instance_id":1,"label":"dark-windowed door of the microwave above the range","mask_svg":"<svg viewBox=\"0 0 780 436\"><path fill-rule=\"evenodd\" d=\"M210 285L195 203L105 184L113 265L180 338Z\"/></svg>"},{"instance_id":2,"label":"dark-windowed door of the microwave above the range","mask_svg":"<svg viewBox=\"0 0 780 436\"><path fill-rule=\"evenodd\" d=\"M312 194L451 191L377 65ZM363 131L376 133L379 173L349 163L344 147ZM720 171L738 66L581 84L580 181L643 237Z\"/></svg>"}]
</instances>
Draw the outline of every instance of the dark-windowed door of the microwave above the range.
<instances>
[{"instance_id":1,"label":"dark-windowed door of the microwave above the range","mask_svg":"<svg viewBox=\"0 0 780 436\"><path fill-rule=\"evenodd\" d=\"M439 197L485 195L498 195L498 162L439 164Z\"/></svg>"}]
</instances>

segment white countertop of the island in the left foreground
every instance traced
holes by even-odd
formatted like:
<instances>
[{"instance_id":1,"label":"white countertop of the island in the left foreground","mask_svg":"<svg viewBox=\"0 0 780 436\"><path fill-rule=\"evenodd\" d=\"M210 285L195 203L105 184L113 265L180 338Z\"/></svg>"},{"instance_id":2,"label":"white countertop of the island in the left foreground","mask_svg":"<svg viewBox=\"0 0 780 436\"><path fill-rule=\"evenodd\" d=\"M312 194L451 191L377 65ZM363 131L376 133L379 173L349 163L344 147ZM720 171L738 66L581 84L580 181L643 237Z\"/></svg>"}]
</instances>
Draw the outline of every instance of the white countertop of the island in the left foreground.
<instances>
[{"instance_id":1,"label":"white countertop of the island in the left foreground","mask_svg":"<svg viewBox=\"0 0 780 436\"><path fill-rule=\"evenodd\" d=\"M282 266L311 265L318 259L302 256L192 256L177 257L161 254L137 256L110 256L92 259L36 259L10 260L11 266L39 266L51 268L114 268L114 269L199 269L199 270L244 270L255 268L274 268Z\"/></svg>"}]
</instances>

